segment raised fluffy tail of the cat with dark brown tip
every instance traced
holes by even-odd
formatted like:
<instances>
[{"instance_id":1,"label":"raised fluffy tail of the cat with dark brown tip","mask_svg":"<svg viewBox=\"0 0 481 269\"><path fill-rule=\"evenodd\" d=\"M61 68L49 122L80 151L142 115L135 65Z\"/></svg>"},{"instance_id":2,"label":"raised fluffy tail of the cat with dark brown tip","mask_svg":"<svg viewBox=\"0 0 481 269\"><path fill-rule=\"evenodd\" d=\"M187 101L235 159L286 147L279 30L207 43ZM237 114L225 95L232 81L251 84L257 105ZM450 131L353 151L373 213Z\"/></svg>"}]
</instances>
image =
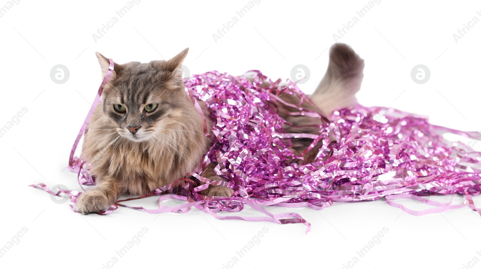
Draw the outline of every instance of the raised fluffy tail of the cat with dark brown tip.
<instances>
[{"instance_id":1,"label":"raised fluffy tail of the cat with dark brown tip","mask_svg":"<svg viewBox=\"0 0 481 269\"><path fill-rule=\"evenodd\" d=\"M334 110L357 104L364 60L346 44L336 43L329 52L329 66L311 100L329 117Z\"/></svg>"}]
</instances>

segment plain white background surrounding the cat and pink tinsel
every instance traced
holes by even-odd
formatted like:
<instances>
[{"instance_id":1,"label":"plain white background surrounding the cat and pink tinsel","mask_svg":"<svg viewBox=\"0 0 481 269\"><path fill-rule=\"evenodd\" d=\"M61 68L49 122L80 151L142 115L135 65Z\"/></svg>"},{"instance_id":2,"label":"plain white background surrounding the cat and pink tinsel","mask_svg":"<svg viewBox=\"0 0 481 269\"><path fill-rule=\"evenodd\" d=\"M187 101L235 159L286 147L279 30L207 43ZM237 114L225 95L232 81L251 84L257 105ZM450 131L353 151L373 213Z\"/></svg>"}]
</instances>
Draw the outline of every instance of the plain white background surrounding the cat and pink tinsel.
<instances>
[{"instance_id":1,"label":"plain white background surrounding the cat and pink tinsel","mask_svg":"<svg viewBox=\"0 0 481 269\"><path fill-rule=\"evenodd\" d=\"M147 1L119 18L122 1L21 0L0 18L0 127L23 106L28 112L0 138L0 247L26 227L28 232L0 258L1 268L102 268L142 227L138 245L113 268L342 268L385 226L381 238L354 268L463 268L480 256L481 217L468 207L411 216L383 199L337 203L322 211L288 209L312 223L220 221L196 210L160 216L120 208L108 216L82 216L58 204L39 182L80 190L67 170L76 133L101 82L94 52L118 63L171 58L190 47L184 64L191 74L209 70L240 75L261 70L272 79L290 77L304 64L311 77L301 85L311 93L328 63L332 34L352 20L367 0L261 0L244 17L247 0ZM0 7L6 4L0 0ZM433 124L481 130L481 23L457 40L453 34L481 11L476 1L387 1L375 5L338 40L365 59L357 94L363 105L392 106L429 115ZM92 34L116 16L119 21L97 42ZM213 34L239 18L226 35ZM63 64L70 78L52 82L50 70ZM430 80L414 83L411 69L429 67ZM397 99L396 99L397 98ZM394 101L395 100L395 101ZM132 202L155 208L157 198ZM432 197L447 201L449 197ZM462 197L455 197L462 203ZM481 203L480 199L475 201ZM413 209L426 208L410 200ZM424 206L424 207L423 207ZM266 210L280 213L284 208ZM257 212L245 209L243 215ZM228 215L228 214L225 214ZM229 263L263 227L268 232L236 264ZM227 268L227 267L226 267ZM347 267L346 267L347 268Z\"/></svg>"}]
</instances>

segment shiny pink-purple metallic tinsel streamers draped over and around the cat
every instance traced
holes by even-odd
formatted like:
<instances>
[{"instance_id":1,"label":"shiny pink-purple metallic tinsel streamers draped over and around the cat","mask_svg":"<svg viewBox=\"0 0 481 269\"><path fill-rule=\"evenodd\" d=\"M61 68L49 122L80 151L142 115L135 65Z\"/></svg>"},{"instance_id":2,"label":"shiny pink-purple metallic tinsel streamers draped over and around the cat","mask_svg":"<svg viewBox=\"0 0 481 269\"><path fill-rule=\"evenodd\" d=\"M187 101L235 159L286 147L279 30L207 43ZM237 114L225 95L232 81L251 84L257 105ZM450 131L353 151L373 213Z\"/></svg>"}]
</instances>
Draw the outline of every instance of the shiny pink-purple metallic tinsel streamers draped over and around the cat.
<instances>
[{"instance_id":1,"label":"shiny pink-purple metallic tinsel streamers draped over and around the cat","mask_svg":"<svg viewBox=\"0 0 481 269\"><path fill-rule=\"evenodd\" d=\"M109 72L112 70L113 61ZM185 79L186 93L199 113L203 116L197 99L205 101L213 111L211 119L214 121L214 135L211 139L215 143L203 158L199 171L189 173L186 178L179 178L148 195L131 198L160 195L158 209L121 204L131 200L126 199L117 201L107 211L99 214L110 214L117 206L148 213L186 213L195 206L221 220L303 223L307 226L306 233L310 230L310 224L300 215L272 214L261 206L321 210L336 201L365 201L385 197L388 204L413 215L461 208L466 204L481 215L481 210L475 207L472 200L472 196L481 193L481 153L472 151L461 142L453 144L442 137L443 133L454 133L477 142L481 138L478 132L462 132L430 125L425 117L393 108L356 105L335 111L330 121L316 112L299 109L299 112L292 112L291 115L320 117L327 123L319 126L320 132L316 135L285 133L282 126L289 123L278 116L278 104L283 103L278 98L279 95L295 94L301 103L312 104L312 101L293 82L288 81L287 85L281 86L280 80L273 82L260 71L252 72L256 74L253 82L217 71ZM70 168L77 173L79 182L85 185L93 184L94 178L89 175L88 164L73 157L73 154L94 107L101 100L101 90L107 80L106 76L80 129L69 160ZM300 105L283 104L296 108ZM335 139L329 140L329 133ZM313 139L309 149L317 141L323 141L313 163L291 164L290 160L303 158L291 151L290 138L293 137ZM202 169L212 161L218 163L216 173L226 177L228 182L200 176ZM187 178L189 175L206 184L199 186ZM174 188L176 184L180 184L180 188ZM235 190L234 196L203 196L199 192L208 184L232 187ZM55 193L43 184L32 185L37 186L52 195L60 195L61 192L68 194L71 208L75 211L76 199L81 192L60 190ZM429 199L431 195L446 194L461 194L466 199L461 205ZM395 199L406 198L417 199L437 208L415 211L394 202ZM179 199L186 203L165 207L160 204L165 199ZM218 211L241 211L244 205L249 205L266 216L216 214Z\"/></svg>"}]
</instances>

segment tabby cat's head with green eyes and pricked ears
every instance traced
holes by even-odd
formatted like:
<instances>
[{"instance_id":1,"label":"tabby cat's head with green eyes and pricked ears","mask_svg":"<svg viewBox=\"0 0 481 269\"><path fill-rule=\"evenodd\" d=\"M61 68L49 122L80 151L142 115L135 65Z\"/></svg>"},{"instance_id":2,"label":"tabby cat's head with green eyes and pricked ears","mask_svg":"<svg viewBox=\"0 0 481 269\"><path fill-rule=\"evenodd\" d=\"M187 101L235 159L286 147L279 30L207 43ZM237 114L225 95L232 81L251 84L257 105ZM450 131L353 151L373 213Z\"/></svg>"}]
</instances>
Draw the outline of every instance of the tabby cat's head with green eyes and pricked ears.
<instances>
[{"instance_id":1,"label":"tabby cat's head with green eyes and pricked ears","mask_svg":"<svg viewBox=\"0 0 481 269\"><path fill-rule=\"evenodd\" d=\"M150 63L114 64L114 72L102 93L101 116L106 129L131 141L140 142L158 136L159 130L186 117L185 87L180 66L189 48L174 58ZM109 59L96 53L102 75Z\"/></svg>"}]
</instances>

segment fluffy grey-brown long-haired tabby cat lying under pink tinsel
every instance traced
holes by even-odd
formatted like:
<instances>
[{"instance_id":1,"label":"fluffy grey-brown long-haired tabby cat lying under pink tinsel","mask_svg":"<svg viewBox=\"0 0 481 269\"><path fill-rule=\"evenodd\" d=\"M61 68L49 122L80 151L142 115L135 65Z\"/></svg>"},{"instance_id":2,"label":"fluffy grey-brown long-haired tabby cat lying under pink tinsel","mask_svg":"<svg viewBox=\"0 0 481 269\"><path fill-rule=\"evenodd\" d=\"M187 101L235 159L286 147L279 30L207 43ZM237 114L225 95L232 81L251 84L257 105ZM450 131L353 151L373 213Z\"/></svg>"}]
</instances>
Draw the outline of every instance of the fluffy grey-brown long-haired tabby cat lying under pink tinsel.
<instances>
[{"instance_id":1,"label":"fluffy grey-brown long-haired tabby cat lying under pink tinsel","mask_svg":"<svg viewBox=\"0 0 481 269\"><path fill-rule=\"evenodd\" d=\"M78 197L76 211L100 212L122 194L148 194L184 177L201 163L213 141L204 136L203 116L184 90L180 66L188 51L186 48L167 61L114 64L102 101L87 127L80 156L89 162L89 173L95 176L96 185ZM108 71L109 59L98 52L96 56L103 77ZM306 102L301 105L327 116L316 119L279 112L280 117L292 123L285 125L286 132L317 134L319 129L315 125L328 121L335 109L354 105L363 68L364 61L351 47L341 43L333 45L326 75L310 96L315 105ZM297 105L300 101L292 94L280 94L279 98L289 104ZM197 101L212 136L211 111L202 100ZM295 109L281 102L276 105L282 106L282 111ZM313 141L291 140L296 154L304 152ZM303 160L292 162L312 161L320 146L318 143ZM216 175L215 166L214 162L209 164L202 176L225 181ZM230 197L233 193L229 187L212 185L201 192L205 196L221 197Z\"/></svg>"}]
</instances>

